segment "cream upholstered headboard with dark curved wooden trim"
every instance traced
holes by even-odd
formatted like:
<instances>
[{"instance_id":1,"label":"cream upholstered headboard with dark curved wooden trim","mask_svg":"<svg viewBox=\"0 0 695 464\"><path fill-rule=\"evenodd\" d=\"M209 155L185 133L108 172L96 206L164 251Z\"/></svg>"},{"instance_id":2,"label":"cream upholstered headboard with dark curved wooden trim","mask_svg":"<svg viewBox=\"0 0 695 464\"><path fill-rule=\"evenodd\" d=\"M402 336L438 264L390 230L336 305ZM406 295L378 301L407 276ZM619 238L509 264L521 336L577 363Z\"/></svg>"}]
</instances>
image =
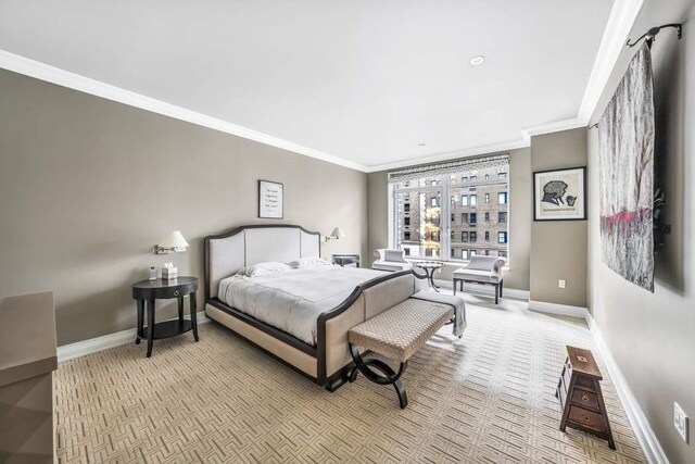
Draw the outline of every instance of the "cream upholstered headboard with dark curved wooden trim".
<instances>
[{"instance_id":1,"label":"cream upholstered headboard with dark curved wooden trim","mask_svg":"<svg viewBox=\"0 0 695 464\"><path fill-rule=\"evenodd\" d=\"M219 280L242 267L266 261L287 263L320 256L320 234L301 226L241 226L230 233L205 237L205 294L217 297Z\"/></svg>"}]
</instances>

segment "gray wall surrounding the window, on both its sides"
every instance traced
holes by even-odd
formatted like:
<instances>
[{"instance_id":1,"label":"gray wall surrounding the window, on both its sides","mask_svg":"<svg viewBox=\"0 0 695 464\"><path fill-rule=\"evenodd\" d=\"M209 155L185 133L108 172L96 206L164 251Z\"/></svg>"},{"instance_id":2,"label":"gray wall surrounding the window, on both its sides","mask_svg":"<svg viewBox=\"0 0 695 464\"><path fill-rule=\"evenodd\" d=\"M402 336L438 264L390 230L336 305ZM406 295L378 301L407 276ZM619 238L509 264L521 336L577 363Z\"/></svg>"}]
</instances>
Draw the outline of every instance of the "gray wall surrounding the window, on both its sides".
<instances>
[{"instance_id":1,"label":"gray wall surrounding the window, on both its sides","mask_svg":"<svg viewBox=\"0 0 695 464\"><path fill-rule=\"evenodd\" d=\"M508 150L509 153L509 271L505 287L529 289L529 250L531 244L531 161L530 150ZM500 154L500 153L489 153ZM369 251L389 244L388 172L369 174ZM369 263L375 260L369 255ZM451 280L457 266L442 268L434 278Z\"/></svg>"}]
</instances>

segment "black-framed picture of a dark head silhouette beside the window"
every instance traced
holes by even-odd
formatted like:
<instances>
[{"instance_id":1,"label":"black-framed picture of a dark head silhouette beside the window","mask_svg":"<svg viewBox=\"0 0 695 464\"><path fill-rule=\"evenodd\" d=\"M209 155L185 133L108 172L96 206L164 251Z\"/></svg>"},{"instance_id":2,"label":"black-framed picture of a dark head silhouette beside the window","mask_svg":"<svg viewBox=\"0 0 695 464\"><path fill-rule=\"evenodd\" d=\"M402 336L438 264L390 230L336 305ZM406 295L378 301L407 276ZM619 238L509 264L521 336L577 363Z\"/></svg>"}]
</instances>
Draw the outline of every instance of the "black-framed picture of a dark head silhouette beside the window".
<instances>
[{"instance_id":1,"label":"black-framed picture of a dark head silhouette beside the window","mask_svg":"<svg viewBox=\"0 0 695 464\"><path fill-rule=\"evenodd\" d=\"M586 221L586 166L533 173L533 221Z\"/></svg>"}]
</instances>

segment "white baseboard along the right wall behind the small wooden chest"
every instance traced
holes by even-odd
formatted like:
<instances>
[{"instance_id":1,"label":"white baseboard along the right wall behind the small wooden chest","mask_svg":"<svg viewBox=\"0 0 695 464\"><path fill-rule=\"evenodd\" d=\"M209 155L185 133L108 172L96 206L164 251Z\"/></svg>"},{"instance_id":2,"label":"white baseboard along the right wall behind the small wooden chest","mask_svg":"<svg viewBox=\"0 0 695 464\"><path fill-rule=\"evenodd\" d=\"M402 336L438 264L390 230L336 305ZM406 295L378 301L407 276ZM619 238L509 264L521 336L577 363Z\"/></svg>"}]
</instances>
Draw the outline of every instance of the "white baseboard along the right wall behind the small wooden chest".
<instances>
[{"instance_id":1,"label":"white baseboard along the right wall behind the small wooden chest","mask_svg":"<svg viewBox=\"0 0 695 464\"><path fill-rule=\"evenodd\" d=\"M659 440L656 438L656 434L654 434L647 417L644 415L644 412L642 412L642 407L640 407L636 398L632 394L628 380L622 375L620 366L618 366L616 359L610 353L608 344L601 334L596 321L594 321L594 317L589 312L586 312L586 324L594 336L594 340L596 340L601 358L604 360L604 364L610 375L610 380L616 387L618 398L620 398L622 407L626 410L630 425L637 437L637 441L642 447L642 451L644 451L647 462L652 464L669 464L669 460L666 456Z\"/></svg>"}]
</instances>

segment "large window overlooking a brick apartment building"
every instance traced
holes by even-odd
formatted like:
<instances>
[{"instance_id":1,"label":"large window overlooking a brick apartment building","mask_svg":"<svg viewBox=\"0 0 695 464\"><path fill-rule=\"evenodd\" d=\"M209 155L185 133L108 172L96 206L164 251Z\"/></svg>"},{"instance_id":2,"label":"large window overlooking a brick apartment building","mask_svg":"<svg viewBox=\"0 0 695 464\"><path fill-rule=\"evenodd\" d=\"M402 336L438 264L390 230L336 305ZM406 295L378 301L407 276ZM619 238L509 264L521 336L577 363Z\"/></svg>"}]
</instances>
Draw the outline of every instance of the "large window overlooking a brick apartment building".
<instances>
[{"instance_id":1,"label":"large window overlooking a brick apartment building","mask_svg":"<svg viewBox=\"0 0 695 464\"><path fill-rule=\"evenodd\" d=\"M393 192L389 197L393 211L389 246L404 250L409 259L470 259L473 243L484 243L478 254L484 250L490 255L506 253L507 242L500 241L500 233L508 239L508 156L466 159L428 170L389 173ZM479 214L482 224L478 224ZM469 248L462 250L462 244Z\"/></svg>"}]
</instances>

